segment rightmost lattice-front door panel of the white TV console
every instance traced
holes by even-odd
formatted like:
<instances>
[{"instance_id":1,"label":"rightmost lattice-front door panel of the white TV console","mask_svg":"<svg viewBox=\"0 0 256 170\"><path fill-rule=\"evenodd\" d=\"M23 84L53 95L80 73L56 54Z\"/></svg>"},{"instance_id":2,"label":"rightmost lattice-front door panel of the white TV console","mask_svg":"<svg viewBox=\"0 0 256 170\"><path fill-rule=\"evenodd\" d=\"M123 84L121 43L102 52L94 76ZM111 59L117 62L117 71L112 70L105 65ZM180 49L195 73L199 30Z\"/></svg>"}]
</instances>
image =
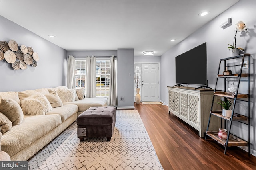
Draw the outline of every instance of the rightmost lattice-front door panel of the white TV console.
<instances>
[{"instance_id":1,"label":"rightmost lattice-front door panel of the white TV console","mask_svg":"<svg viewBox=\"0 0 256 170\"><path fill-rule=\"evenodd\" d=\"M189 121L198 126L198 96L188 94Z\"/></svg>"}]
</instances>

